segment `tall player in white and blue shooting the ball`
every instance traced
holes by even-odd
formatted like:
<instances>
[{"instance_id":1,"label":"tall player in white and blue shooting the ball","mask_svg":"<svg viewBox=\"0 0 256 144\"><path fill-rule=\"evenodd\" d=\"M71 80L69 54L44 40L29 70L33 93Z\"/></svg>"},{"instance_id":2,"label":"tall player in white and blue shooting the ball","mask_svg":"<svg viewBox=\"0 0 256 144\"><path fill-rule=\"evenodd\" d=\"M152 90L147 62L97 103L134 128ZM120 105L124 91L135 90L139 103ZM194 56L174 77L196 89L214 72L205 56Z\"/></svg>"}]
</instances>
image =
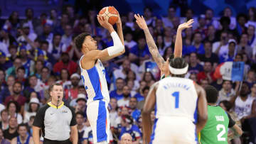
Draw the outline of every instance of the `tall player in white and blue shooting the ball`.
<instances>
[{"instance_id":1,"label":"tall player in white and blue shooting the ball","mask_svg":"<svg viewBox=\"0 0 256 144\"><path fill-rule=\"evenodd\" d=\"M106 18L97 16L97 20L110 32L114 46L97 50L97 42L87 33L78 35L75 38L75 45L83 53L80 58L80 68L82 81L88 94L87 118L92 127L93 143L109 143L110 119L107 105L110 95L102 62L124 53L124 38L120 18L117 21L118 35Z\"/></svg>"}]
</instances>

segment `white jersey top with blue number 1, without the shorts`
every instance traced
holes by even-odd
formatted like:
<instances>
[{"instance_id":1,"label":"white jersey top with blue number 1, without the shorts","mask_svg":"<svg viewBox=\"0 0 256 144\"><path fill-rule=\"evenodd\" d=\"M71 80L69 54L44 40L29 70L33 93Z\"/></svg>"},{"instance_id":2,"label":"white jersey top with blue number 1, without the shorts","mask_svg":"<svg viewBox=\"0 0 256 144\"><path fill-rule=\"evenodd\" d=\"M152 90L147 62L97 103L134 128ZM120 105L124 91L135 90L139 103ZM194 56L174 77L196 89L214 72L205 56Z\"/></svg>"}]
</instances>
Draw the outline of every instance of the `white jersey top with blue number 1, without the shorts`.
<instances>
[{"instance_id":1,"label":"white jersey top with blue number 1, without the shorts","mask_svg":"<svg viewBox=\"0 0 256 144\"><path fill-rule=\"evenodd\" d=\"M191 79L166 77L159 81L156 90L156 118L183 116L196 121L196 88Z\"/></svg>"}]
</instances>

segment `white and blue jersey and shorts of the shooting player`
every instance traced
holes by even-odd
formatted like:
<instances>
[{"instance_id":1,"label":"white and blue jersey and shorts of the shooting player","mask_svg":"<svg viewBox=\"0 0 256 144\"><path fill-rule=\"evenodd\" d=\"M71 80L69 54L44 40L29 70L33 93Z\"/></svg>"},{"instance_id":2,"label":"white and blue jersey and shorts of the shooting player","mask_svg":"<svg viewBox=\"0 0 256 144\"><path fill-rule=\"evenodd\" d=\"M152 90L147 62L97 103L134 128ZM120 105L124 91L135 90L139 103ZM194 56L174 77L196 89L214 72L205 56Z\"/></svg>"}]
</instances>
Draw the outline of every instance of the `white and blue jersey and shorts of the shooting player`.
<instances>
[{"instance_id":1,"label":"white and blue jersey and shorts of the shooting player","mask_svg":"<svg viewBox=\"0 0 256 144\"><path fill-rule=\"evenodd\" d=\"M90 70L82 69L82 57L81 77L88 96L87 118L92 128L93 143L102 141L109 143L110 116L107 106L110 102L110 94L105 78L105 67L100 60L97 60Z\"/></svg>"}]
</instances>

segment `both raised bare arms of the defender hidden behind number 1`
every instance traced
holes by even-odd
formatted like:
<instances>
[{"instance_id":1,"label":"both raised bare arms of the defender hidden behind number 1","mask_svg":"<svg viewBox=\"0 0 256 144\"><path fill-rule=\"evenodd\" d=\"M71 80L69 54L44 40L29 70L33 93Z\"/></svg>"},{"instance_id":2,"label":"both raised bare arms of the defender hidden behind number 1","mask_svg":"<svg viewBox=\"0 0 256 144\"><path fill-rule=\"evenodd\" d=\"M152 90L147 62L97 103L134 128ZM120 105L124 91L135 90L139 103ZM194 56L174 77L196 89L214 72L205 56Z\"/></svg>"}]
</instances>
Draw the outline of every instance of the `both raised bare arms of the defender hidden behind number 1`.
<instances>
[{"instance_id":1,"label":"both raised bare arms of the defender hidden behind number 1","mask_svg":"<svg viewBox=\"0 0 256 144\"><path fill-rule=\"evenodd\" d=\"M136 22L139 28L145 33L146 36L146 43L149 46L149 52L151 53L154 61L156 62L157 66L161 71L161 78L166 77L170 74L169 72L169 60L164 61L164 58L160 55L158 48L156 47L156 43L154 43L154 39L149 32L149 28L146 25L146 21L144 20L143 16L139 16L139 14L135 14L134 17L136 18ZM185 28L191 28L193 23L193 19L189 20L186 23L182 23L178 26L177 33L176 33L176 40L174 46L174 58L182 56L182 37L181 32Z\"/></svg>"}]
</instances>

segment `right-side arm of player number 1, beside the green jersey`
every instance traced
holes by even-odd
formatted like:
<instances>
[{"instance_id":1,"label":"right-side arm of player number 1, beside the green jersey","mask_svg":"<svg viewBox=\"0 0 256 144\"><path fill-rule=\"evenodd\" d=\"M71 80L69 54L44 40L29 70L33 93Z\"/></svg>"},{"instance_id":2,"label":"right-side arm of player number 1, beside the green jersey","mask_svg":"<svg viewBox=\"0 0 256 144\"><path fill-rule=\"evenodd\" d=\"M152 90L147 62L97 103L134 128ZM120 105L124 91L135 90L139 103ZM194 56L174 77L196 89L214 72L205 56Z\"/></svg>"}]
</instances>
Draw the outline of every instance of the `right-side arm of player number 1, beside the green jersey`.
<instances>
[{"instance_id":1,"label":"right-side arm of player number 1, beside the green jersey","mask_svg":"<svg viewBox=\"0 0 256 144\"><path fill-rule=\"evenodd\" d=\"M196 133L199 133L206 125L208 119L206 92L203 87L195 84L198 94L198 122L196 123Z\"/></svg>"}]
</instances>

